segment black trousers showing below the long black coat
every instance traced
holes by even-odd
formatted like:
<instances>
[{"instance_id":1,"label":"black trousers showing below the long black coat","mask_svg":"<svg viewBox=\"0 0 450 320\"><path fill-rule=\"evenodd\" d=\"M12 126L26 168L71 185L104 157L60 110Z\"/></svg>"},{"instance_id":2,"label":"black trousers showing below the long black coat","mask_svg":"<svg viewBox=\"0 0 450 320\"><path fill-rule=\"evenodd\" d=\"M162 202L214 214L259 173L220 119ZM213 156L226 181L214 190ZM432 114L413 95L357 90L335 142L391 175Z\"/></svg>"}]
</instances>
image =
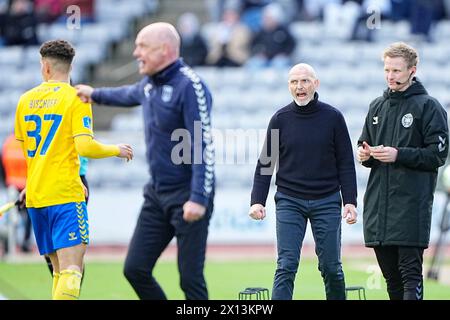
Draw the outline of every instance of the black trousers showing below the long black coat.
<instances>
[{"instance_id":1,"label":"black trousers showing below the long black coat","mask_svg":"<svg viewBox=\"0 0 450 320\"><path fill-rule=\"evenodd\" d=\"M391 300L423 299L423 248L374 247Z\"/></svg>"}]
</instances>

